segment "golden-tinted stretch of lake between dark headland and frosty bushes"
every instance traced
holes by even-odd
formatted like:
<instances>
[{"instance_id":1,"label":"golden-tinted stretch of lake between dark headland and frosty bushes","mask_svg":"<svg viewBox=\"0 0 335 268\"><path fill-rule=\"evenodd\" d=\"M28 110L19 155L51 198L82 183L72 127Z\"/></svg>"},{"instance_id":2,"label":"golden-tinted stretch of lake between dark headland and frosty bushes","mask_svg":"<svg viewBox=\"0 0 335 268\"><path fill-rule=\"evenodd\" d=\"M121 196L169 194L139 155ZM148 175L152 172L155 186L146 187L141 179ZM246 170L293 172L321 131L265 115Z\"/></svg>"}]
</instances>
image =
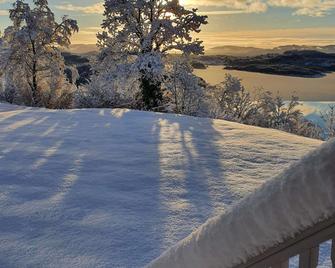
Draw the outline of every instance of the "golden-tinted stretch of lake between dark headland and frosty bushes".
<instances>
[{"instance_id":1,"label":"golden-tinted stretch of lake between dark headland and frosty bushes","mask_svg":"<svg viewBox=\"0 0 335 268\"><path fill-rule=\"evenodd\" d=\"M285 99L290 99L294 94L301 101L335 102L335 73L322 78L300 78L225 70L223 66L209 66L194 73L213 85L220 83L225 74L230 73L241 78L243 85L251 92L264 88Z\"/></svg>"}]
</instances>

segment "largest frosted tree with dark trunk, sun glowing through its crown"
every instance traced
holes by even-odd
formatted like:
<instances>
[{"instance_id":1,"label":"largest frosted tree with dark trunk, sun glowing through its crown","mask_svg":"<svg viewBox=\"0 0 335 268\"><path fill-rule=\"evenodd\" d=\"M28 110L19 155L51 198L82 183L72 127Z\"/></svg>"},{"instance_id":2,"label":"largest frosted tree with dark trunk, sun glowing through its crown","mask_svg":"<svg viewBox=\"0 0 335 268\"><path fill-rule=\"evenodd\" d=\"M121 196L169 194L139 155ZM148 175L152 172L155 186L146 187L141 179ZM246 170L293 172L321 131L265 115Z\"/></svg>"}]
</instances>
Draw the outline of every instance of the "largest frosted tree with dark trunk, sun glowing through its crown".
<instances>
[{"instance_id":1,"label":"largest frosted tree with dark trunk, sun glowing through its crown","mask_svg":"<svg viewBox=\"0 0 335 268\"><path fill-rule=\"evenodd\" d=\"M165 55L203 53L202 42L192 33L200 32L207 17L179 0L105 0L104 6L104 31L98 34L103 57L130 63L139 77L143 108L160 106Z\"/></svg>"}]
</instances>

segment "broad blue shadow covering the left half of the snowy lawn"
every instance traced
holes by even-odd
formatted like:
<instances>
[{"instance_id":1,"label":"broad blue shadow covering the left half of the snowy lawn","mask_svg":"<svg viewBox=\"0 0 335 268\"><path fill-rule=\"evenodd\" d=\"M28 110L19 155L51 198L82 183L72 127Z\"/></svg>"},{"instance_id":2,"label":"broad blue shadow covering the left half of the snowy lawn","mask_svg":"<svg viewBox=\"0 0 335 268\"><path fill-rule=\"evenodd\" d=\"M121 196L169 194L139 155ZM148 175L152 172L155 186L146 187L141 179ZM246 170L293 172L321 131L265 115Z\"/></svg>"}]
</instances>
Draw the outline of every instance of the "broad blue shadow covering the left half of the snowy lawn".
<instances>
[{"instance_id":1,"label":"broad blue shadow covering the left half of the snowy lawn","mask_svg":"<svg viewBox=\"0 0 335 268\"><path fill-rule=\"evenodd\" d=\"M6 118L0 239L9 234L11 243L0 259L139 267L159 255L157 122L150 113L110 110L28 110Z\"/></svg>"}]
</instances>

